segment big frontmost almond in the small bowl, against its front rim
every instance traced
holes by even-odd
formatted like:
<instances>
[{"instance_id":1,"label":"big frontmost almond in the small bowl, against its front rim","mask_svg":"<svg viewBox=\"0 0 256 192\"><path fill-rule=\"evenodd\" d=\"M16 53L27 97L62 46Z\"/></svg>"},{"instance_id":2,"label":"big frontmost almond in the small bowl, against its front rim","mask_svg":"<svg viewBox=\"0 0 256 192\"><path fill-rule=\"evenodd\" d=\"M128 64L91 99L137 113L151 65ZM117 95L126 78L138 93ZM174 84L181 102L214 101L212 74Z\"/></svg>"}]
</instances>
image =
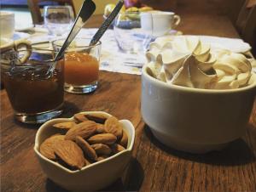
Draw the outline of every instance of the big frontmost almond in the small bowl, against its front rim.
<instances>
[{"instance_id":1,"label":"big frontmost almond in the small bowl, against its front rim","mask_svg":"<svg viewBox=\"0 0 256 192\"><path fill-rule=\"evenodd\" d=\"M71 140L59 140L55 142L55 155L61 158L61 161L68 166L81 169L84 167L83 151L78 144Z\"/></svg>"}]
</instances>

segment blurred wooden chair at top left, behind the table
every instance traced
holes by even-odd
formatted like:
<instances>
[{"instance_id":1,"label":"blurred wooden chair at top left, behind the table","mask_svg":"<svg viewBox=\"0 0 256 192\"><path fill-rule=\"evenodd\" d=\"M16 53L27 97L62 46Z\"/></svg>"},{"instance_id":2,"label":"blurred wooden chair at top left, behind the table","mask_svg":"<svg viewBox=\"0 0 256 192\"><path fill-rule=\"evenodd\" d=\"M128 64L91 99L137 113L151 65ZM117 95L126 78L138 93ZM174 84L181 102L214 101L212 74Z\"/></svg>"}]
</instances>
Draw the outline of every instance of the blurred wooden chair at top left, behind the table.
<instances>
[{"instance_id":1,"label":"blurred wooden chair at top left, behind the table","mask_svg":"<svg viewBox=\"0 0 256 192\"><path fill-rule=\"evenodd\" d=\"M75 14L73 0L27 0L27 5L28 8L30 9L34 25L42 24L44 22L44 18L40 11L40 3L46 4L46 2L48 3L48 5L70 5L73 8L73 13Z\"/></svg>"}]
</instances>

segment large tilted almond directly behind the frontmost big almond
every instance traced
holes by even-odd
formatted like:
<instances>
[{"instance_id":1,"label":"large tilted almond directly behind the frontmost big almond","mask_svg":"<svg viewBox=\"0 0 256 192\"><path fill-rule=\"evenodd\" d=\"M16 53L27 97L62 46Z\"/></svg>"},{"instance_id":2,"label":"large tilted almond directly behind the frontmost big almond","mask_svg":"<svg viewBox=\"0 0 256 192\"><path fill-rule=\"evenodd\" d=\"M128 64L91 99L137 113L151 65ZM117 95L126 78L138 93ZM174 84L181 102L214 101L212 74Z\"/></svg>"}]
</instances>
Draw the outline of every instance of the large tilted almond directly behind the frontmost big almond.
<instances>
[{"instance_id":1,"label":"large tilted almond directly behind the frontmost big almond","mask_svg":"<svg viewBox=\"0 0 256 192\"><path fill-rule=\"evenodd\" d=\"M96 133L96 122L95 121L84 121L73 128L69 129L66 133L65 139L75 141L77 136L80 136L84 139L89 138L91 135Z\"/></svg>"}]
</instances>

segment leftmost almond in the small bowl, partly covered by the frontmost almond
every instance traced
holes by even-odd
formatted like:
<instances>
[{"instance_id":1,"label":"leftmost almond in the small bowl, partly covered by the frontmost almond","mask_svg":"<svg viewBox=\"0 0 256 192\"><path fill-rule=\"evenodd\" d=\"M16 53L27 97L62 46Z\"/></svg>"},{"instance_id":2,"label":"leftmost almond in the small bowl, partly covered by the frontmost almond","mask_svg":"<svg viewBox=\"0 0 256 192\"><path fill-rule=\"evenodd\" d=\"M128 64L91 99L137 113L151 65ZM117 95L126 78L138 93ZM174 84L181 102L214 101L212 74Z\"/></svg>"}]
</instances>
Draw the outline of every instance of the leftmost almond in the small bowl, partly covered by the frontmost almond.
<instances>
[{"instance_id":1,"label":"leftmost almond in the small bowl, partly covered by the frontmost almond","mask_svg":"<svg viewBox=\"0 0 256 192\"><path fill-rule=\"evenodd\" d=\"M64 140L64 138L65 136L60 134L53 135L50 138L46 138L43 144L40 145L40 153L50 160L55 160L55 141Z\"/></svg>"}]
</instances>

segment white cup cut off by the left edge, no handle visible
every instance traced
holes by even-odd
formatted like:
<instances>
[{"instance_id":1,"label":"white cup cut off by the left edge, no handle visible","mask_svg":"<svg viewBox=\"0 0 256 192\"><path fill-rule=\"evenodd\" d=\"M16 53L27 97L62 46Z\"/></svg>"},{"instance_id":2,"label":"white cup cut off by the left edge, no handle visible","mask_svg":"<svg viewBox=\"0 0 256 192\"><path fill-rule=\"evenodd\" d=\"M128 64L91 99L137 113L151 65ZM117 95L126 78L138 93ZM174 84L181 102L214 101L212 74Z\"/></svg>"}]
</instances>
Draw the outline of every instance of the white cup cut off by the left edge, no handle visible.
<instances>
[{"instance_id":1,"label":"white cup cut off by the left edge, no handle visible","mask_svg":"<svg viewBox=\"0 0 256 192\"><path fill-rule=\"evenodd\" d=\"M12 38L15 33L15 14L0 11L0 37Z\"/></svg>"}]
</instances>

